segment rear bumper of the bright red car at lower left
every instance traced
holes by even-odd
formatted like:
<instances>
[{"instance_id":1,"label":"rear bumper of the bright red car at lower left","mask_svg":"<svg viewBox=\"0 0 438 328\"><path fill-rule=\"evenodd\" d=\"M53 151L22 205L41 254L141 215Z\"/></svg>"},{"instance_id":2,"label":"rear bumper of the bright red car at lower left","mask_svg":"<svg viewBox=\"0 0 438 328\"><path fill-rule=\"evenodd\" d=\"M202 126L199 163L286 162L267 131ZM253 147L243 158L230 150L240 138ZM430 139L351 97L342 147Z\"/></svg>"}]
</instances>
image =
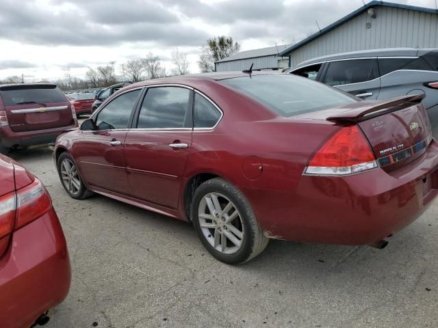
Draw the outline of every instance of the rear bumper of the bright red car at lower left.
<instances>
[{"instance_id":1,"label":"rear bumper of the bright red car at lower left","mask_svg":"<svg viewBox=\"0 0 438 328\"><path fill-rule=\"evenodd\" d=\"M0 260L0 323L29 328L61 303L70 288L66 240L53 208L14 232Z\"/></svg>"}]
</instances>

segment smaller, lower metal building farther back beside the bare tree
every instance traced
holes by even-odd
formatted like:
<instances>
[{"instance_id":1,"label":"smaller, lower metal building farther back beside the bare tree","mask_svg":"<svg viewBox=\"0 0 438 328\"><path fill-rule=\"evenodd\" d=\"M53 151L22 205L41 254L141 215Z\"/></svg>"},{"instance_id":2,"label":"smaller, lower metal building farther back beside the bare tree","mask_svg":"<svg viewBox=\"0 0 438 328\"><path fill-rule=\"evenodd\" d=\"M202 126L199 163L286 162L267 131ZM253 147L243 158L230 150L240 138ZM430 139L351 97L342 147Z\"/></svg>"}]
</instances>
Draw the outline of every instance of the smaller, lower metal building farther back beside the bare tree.
<instances>
[{"instance_id":1,"label":"smaller, lower metal building farther back beside the bare tree","mask_svg":"<svg viewBox=\"0 0 438 328\"><path fill-rule=\"evenodd\" d=\"M289 57L278 57L278 55L288 47L289 45L286 44L236 53L216 61L214 63L216 72L247 70L251 64L254 64L253 70L286 68L289 65Z\"/></svg>"}]
</instances>

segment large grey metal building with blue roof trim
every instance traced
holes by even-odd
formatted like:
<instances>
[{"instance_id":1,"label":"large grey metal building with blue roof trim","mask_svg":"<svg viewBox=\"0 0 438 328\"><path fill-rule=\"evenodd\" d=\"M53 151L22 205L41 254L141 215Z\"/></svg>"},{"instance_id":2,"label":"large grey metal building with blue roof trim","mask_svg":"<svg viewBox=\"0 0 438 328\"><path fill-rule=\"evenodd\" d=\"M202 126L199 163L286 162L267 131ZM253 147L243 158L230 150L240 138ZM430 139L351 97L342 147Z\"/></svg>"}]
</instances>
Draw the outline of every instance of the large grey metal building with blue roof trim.
<instances>
[{"instance_id":1,"label":"large grey metal building with blue roof trim","mask_svg":"<svg viewBox=\"0 0 438 328\"><path fill-rule=\"evenodd\" d=\"M314 57L383 48L438 48L438 10L371 1L279 55L293 67Z\"/></svg>"}]
</instances>

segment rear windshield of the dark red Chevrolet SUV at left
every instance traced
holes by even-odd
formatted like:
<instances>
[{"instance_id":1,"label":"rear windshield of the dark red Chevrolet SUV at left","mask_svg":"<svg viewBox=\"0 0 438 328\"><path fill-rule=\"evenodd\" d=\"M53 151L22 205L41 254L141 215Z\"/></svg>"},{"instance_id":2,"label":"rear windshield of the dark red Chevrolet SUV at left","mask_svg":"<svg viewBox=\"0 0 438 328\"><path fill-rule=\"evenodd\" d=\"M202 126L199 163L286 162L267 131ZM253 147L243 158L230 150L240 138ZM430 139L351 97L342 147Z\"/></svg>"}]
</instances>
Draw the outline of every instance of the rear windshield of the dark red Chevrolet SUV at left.
<instances>
[{"instance_id":1,"label":"rear windshield of the dark red Chevrolet SUV at left","mask_svg":"<svg viewBox=\"0 0 438 328\"><path fill-rule=\"evenodd\" d=\"M66 96L57 87L17 88L0 91L5 106L66 102Z\"/></svg>"}]
</instances>

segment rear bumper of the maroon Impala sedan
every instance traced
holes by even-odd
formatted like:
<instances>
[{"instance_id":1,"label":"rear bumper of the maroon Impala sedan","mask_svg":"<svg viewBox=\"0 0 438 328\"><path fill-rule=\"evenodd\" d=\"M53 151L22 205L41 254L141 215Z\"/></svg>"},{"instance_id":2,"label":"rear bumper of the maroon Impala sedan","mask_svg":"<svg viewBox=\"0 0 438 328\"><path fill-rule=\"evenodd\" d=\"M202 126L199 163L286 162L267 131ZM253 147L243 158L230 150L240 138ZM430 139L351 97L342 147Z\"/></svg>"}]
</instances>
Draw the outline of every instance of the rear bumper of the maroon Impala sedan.
<instances>
[{"instance_id":1,"label":"rear bumper of the maroon Impala sedan","mask_svg":"<svg viewBox=\"0 0 438 328\"><path fill-rule=\"evenodd\" d=\"M369 245L420 217L438 194L437 169L433 141L423 156L394 172L302 176L294 191L242 191L272 238Z\"/></svg>"}]
</instances>

